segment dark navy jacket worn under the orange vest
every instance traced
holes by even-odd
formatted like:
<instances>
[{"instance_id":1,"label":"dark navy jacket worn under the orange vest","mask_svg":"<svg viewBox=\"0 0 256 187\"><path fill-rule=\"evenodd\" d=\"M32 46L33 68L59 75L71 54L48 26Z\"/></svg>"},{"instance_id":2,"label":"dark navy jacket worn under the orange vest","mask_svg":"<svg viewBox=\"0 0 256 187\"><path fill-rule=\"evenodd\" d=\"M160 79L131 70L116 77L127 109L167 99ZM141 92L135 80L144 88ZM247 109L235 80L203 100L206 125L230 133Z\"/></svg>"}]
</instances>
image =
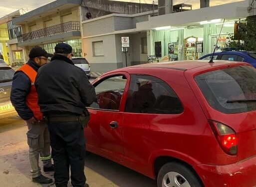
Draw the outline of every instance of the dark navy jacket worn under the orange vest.
<instances>
[{"instance_id":1,"label":"dark navy jacket worn under the orange vest","mask_svg":"<svg viewBox=\"0 0 256 187\"><path fill-rule=\"evenodd\" d=\"M31 66L35 71L39 68L32 60L28 60L26 64ZM31 81L28 76L22 71L15 72L12 78L10 101L23 120L33 117L32 111L26 105L26 96L29 94L30 88Z\"/></svg>"}]
</instances>

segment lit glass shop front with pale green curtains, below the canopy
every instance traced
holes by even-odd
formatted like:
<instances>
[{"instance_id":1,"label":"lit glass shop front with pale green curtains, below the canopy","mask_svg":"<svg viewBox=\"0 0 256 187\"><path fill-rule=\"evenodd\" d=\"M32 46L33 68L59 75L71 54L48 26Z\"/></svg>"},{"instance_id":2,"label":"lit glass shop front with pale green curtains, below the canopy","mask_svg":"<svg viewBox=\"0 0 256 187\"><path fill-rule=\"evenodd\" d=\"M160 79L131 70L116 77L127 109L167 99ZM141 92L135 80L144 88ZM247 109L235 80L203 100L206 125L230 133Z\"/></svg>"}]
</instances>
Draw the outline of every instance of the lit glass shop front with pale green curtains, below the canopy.
<instances>
[{"instance_id":1,"label":"lit glass shop front with pale green curtains, below the canopy","mask_svg":"<svg viewBox=\"0 0 256 187\"><path fill-rule=\"evenodd\" d=\"M201 56L213 52L217 39L217 51L227 47L232 35L234 35L235 21L229 20L223 24L223 19L215 19L208 22L191 23L188 26L159 27L151 30L151 55L155 55L159 61L168 57L174 60L195 60ZM221 31L221 27L223 28Z\"/></svg>"}]
</instances>

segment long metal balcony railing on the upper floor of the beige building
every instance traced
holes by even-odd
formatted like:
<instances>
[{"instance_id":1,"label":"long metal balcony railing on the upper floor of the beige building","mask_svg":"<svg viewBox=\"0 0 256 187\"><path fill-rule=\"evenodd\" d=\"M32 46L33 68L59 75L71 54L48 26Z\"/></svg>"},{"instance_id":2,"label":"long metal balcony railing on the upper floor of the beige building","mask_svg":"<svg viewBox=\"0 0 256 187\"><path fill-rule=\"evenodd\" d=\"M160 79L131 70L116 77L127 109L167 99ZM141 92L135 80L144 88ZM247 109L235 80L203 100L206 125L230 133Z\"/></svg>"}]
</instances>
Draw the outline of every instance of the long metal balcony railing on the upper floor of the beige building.
<instances>
[{"instance_id":1,"label":"long metal balcony railing on the upper floor of the beige building","mask_svg":"<svg viewBox=\"0 0 256 187\"><path fill-rule=\"evenodd\" d=\"M79 21L68 21L22 34L18 37L18 42L23 42L26 40L32 40L54 34L60 34L68 31L80 31Z\"/></svg>"}]
</instances>

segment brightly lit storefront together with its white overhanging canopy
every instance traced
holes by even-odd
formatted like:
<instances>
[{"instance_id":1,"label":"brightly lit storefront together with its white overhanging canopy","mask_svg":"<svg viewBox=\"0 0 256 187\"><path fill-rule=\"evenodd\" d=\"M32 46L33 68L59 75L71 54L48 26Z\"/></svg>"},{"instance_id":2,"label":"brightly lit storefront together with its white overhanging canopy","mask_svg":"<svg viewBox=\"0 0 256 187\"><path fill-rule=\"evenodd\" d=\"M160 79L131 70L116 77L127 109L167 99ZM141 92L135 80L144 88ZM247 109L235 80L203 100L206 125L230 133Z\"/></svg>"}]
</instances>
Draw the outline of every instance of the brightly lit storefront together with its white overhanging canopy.
<instances>
[{"instance_id":1,"label":"brightly lit storefront together with its white overhanging canopy","mask_svg":"<svg viewBox=\"0 0 256 187\"><path fill-rule=\"evenodd\" d=\"M147 30L148 55L159 62L199 59L212 53L215 47L217 51L227 47L235 21L243 21L249 15L248 6L249 1L244 0L152 16L137 23L136 28Z\"/></svg>"}]
</instances>

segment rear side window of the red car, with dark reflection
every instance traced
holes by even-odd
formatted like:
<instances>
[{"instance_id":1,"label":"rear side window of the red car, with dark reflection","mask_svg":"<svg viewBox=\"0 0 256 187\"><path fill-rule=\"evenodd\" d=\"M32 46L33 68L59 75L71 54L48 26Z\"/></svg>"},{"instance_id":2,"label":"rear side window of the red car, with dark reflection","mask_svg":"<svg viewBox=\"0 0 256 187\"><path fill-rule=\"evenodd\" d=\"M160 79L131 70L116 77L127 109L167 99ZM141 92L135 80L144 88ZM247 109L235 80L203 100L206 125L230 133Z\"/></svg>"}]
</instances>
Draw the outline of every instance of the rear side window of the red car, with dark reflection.
<instances>
[{"instance_id":1,"label":"rear side window of the red car, with dark reflection","mask_svg":"<svg viewBox=\"0 0 256 187\"><path fill-rule=\"evenodd\" d=\"M159 78L131 75L125 112L180 114L182 104L172 88Z\"/></svg>"}]
</instances>

